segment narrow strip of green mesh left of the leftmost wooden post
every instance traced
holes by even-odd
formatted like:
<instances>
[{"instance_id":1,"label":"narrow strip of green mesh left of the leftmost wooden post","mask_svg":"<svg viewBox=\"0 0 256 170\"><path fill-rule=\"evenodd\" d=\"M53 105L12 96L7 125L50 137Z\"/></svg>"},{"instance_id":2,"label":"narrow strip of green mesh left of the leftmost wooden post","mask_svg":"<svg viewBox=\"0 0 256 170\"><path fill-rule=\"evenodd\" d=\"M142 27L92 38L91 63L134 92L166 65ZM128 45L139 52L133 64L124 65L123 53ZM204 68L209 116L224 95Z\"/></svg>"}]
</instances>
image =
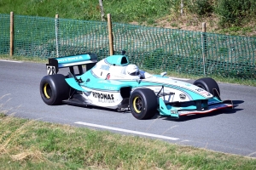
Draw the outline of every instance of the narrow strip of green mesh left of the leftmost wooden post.
<instances>
[{"instance_id":1,"label":"narrow strip of green mesh left of the leftmost wooden post","mask_svg":"<svg viewBox=\"0 0 256 170\"><path fill-rule=\"evenodd\" d=\"M0 54L9 54L9 14L0 14Z\"/></svg>"}]
</instances>

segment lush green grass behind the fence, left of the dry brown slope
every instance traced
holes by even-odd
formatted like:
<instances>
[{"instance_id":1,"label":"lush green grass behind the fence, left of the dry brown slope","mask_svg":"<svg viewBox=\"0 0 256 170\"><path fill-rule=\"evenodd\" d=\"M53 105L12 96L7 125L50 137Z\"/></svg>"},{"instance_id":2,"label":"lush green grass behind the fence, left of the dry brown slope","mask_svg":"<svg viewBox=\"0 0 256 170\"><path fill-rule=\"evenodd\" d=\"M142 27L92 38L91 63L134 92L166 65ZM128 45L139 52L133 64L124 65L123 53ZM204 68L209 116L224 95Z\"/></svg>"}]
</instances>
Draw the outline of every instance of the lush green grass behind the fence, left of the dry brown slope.
<instances>
[{"instance_id":1,"label":"lush green grass behind the fence, left of the dry brown slope","mask_svg":"<svg viewBox=\"0 0 256 170\"><path fill-rule=\"evenodd\" d=\"M102 1L104 13L113 15L113 21L131 22L146 21L148 18L160 18L170 12L175 3L172 1ZM101 20L99 1L79 0L2 0L0 2L0 13L55 17L59 14L61 18L80 20Z\"/></svg>"}]
</instances>

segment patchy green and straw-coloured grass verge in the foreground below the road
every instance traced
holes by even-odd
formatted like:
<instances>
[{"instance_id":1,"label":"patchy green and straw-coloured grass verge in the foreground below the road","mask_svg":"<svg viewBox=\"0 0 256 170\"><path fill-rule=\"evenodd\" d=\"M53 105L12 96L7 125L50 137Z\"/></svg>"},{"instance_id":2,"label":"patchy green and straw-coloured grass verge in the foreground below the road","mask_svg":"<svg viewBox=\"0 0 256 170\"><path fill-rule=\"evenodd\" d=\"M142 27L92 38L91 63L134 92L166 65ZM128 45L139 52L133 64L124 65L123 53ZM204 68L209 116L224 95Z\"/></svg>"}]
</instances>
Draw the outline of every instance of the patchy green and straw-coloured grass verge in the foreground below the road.
<instances>
[{"instance_id":1,"label":"patchy green and straw-coloured grass verge in the foreground below the road","mask_svg":"<svg viewBox=\"0 0 256 170\"><path fill-rule=\"evenodd\" d=\"M0 114L2 169L255 169L256 159Z\"/></svg>"}]
</instances>

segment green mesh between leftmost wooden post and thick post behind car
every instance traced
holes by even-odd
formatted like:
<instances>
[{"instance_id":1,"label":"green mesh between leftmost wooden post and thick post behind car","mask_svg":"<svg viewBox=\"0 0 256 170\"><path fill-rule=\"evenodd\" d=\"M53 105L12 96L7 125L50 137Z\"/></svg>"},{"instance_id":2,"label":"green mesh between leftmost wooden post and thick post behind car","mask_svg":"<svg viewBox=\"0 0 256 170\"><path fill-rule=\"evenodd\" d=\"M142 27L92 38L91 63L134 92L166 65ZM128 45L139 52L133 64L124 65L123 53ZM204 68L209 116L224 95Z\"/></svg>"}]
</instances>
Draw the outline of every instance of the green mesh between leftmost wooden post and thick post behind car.
<instances>
[{"instance_id":1,"label":"green mesh between leftmost wooden post and thick post behind car","mask_svg":"<svg viewBox=\"0 0 256 170\"><path fill-rule=\"evenodd\" d=\"M15 15L15 55L52 58L84 53L108 54L104 22Z\"/></svg>"}]
</instances>

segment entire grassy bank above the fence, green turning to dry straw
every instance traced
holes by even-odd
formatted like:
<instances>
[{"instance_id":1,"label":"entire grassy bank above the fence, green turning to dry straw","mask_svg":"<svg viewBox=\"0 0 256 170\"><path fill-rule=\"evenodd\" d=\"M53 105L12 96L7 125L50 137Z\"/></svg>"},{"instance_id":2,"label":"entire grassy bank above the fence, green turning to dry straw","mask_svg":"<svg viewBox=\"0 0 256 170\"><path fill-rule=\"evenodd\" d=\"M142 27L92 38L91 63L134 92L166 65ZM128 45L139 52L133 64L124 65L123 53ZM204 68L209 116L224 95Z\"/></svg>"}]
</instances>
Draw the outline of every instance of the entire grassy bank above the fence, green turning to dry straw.
<instances>
[{"instance_id":1,"label":"entire grassy bank above the fence, green turning to dry straw","mask_svg":"<svg viewBox=\"0 0 256 170\"><path fill-rule=\"evenodd\" d=\"M102 4L105 19L107 19L107 14L111 14L113 22L132 22L139 23L140 25L147 24L149 26L165 26L166 24L171 24L172 27L179 29L183 29L183 26L193 25L199 26L197 31L201 31L201 22L207 21L207 23L210 23L210 26L207 25L208 32L255 37L255 14L250 14L246 20L241 20L239 22L241 27L237 27L239 30L235 29L236 31L234 31L234 26L218 26L218 21L222 18L218 14L215 14L216 11L212 11L212 14L207 15L208 17L203 14L197 14L200 11L197 9L206 9L209 7L209 5L198 3L195 8L197 1L194 3L184 1L184 14L181 16L180 2L180 0L108 0L102 1ZM208 1L202 2L207 3ZM216 0L211 2L217 4ZM99 2L90 0L1 0L0 14L9 14L10 11L19 15L53 18L55 14L59 14L60 18L63 19L102 20ZM172 22L175 24L172 24ZM213 26L212 23L214 23Z\"/></svg>"}]
</instances>

